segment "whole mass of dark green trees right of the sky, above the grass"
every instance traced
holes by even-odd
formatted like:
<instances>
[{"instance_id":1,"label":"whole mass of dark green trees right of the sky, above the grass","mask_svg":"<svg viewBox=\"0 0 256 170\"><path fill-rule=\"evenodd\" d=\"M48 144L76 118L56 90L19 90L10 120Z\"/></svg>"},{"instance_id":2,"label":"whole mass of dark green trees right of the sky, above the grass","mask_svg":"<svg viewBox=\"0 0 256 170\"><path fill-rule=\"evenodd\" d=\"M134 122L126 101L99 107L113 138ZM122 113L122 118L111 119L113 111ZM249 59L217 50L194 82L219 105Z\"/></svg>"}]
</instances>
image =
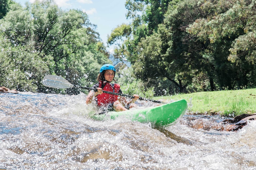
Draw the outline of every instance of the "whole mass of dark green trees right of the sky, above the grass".
<instances>
[{"instance_id":1,"label":"whole mass of dark green trees right of the sky, above the grass","mask_svg":"<svg viewBox=\"0 0 256 170\"><path fill-rule=\"evenodd\" d=\"M144 6L136 8L139 2ZM154 87L159 81L154 79L167 78L181 93L186 88L193 92L254 87L253 2L184 0L167 4L129 1L127 5L133 10L129 13L133 37L124 44L138 78ZM139 10L141 15L135 15ZM157 16L153 28L151 18Z\"/></svg>"}]
</instances>

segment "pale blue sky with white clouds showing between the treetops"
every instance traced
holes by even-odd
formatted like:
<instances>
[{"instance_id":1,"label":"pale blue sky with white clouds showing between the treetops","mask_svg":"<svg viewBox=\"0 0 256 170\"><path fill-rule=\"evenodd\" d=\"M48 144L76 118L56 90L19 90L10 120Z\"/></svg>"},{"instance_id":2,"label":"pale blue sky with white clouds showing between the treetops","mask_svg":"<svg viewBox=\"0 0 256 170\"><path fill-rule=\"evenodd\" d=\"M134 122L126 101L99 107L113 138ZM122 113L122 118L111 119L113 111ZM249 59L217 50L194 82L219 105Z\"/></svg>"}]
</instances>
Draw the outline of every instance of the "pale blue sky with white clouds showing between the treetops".
<instances>
[{"instance_id":1,"label":"pale blue sky with white clouds showing between the treetops","mask_svg":"<svg viewBox=\"0 0 256 170\"><path fill-rule=\"evenodd\" d=\"M34 2L34 0L14 0L25 6L25 2ZM126 0L54 0L56 4L64 10L80 9L86 12L92 24L97 25L97 32L100 38L106 44L107 35L111 34L111 30L122 23L128 24L125 9ZM109 49L111 51L111 49Z\"/></svg>"}]
</instances>

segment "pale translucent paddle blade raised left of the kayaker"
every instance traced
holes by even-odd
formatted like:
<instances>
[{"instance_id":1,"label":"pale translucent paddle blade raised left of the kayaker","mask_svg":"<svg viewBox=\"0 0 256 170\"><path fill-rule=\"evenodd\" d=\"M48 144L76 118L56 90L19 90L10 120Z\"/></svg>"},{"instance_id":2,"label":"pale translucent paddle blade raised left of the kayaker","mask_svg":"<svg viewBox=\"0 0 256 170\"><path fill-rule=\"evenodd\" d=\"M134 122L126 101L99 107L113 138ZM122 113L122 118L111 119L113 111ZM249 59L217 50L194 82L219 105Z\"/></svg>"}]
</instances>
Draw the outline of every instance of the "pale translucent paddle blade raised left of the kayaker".
<instances>
[{"instance_id":1,"label":"pale translucent paddle blade raised left of the kayaker","mask_svg":"<svg viewBox=\"0 0 256 170\"><path fill-rule=\"evenodd\" d=\"M74 85L72 85L70 82L68 82L66 79L56 76L56 75L47 75L43 78L43 85L46 87L51 88L72 88Z\"/></svg>"}]
</instances>

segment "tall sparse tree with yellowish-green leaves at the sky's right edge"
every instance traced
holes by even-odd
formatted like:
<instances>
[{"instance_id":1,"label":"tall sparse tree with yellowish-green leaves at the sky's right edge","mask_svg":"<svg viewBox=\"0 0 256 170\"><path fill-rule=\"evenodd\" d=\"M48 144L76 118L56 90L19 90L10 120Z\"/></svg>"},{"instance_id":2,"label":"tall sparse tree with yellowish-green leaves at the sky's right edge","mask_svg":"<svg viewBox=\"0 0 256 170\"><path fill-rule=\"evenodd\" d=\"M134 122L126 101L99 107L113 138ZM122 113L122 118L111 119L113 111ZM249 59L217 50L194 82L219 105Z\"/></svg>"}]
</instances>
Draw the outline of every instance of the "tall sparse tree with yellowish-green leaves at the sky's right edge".
<instances>
[{"instance_id":1,"label":"tall sparse tree with yellowish-green leaves at the sky's right edge","mask_svg":"<svg viewBox=\"0 0 256 170\"><path fill-rule=\"evenodd\" d=\"M167 10L168 1L166 0L127 0L126 8L128 9L127 18L132 19L132 24L122 24L112 30L108 37L108 44L115 45L115 58L121 61L128 60L131 64L141 65L140 49L138 46L146 37L154 34L158 29L158 24L163 21L164 14ZM135 68L134 67L134 68ZM149 67L149 66L148 66ZM149 81L148 77L138 74L144 74L138 71L137 76L143 81ZM146 73L145 73L146 74Z\"/></svg>"}]
</instances>

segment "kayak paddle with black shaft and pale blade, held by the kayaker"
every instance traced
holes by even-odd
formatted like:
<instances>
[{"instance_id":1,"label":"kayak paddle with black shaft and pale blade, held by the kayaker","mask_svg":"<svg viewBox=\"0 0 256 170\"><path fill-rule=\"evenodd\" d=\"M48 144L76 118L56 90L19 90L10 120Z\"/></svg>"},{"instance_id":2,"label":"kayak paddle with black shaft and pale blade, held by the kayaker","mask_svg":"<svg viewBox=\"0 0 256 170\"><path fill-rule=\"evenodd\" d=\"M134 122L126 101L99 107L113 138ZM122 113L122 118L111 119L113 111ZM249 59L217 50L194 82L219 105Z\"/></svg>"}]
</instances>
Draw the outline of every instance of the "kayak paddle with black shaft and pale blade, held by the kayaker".
<instances>
[{"instance_id":1,"label":"kayak paddle with black shaft and pale blade, held by the kayaker","mask_svg":"<svg viewBox=\"0 0 256 170\"><path fill-rule=\"evenodd\" d=\"M58 89L65 89L65 88L75 87L75 88L82 88L82 89L86 89L86 90L94 90L95 92L97 91L97 89L94 89L94 88L83 87L83 86L79 86L79 85L72 85L66 79L64 79L60 76L56 76L56 75L47 75L47 76L45 76L43 78L43 85L45 85L46 87L58 88ZM105 90L102 90L102 91L103 91L103 93L119 95L119 96L123 96L123 97L127 97L127 98L134 98L134 96L132 96L132 95L115 93L115 92L110 92L110 91L105 91ZM161 101L155 101L155 100L142 98L142 97L139 97L139 100L152 101L154 103L162 103Z\"/></svg>"}]
</instances>

